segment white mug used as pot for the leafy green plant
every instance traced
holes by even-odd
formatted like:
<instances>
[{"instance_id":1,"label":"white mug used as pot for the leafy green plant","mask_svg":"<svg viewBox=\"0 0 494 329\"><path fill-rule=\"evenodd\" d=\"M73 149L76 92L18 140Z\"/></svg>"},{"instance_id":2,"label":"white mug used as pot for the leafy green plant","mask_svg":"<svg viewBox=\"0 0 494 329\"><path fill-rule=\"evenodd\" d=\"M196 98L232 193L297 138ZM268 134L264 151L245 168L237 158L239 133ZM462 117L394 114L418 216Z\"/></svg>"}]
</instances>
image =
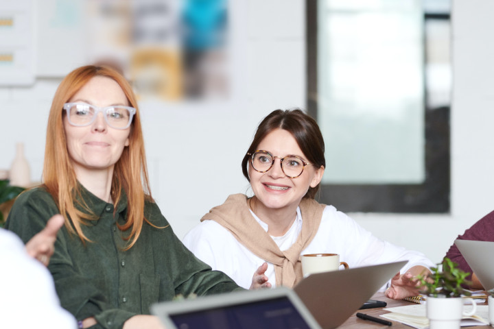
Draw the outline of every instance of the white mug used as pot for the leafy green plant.
<instances>
[{"instance_id":1,"label":"white mug used as pot for the leafy green plant","mask_svg":"<svg viewBox=\"0 0 494 329\"><path fill-rule=\"evenodd\" d=\"M427 297L427 318L430 329L454 329L460 328L460 321L464 316L475 314L477 305L472 300L471 312L463 312L462 297Z\"/></svg>"}]
</instances>

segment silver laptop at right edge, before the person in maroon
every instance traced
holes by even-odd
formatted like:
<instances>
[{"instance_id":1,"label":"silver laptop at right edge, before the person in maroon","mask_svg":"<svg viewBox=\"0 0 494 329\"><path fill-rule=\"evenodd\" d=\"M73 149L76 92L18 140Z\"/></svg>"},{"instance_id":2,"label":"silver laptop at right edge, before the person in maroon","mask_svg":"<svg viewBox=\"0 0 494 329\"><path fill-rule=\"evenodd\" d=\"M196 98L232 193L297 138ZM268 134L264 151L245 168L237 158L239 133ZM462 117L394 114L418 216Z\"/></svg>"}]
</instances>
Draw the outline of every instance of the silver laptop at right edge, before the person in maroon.
<instances>
[{"instance_id":1,"label":"silver laptop at right edge, before the person in maroon","mask_svg":"<svg viewBox=\"0 0 494 329\"><path fill-rule=\"evenodd\" d=\"M468 265L485 290L494 288L494 263L489 259L494 254L494 242L455 240Z\"/></svg>"}]
</instances>

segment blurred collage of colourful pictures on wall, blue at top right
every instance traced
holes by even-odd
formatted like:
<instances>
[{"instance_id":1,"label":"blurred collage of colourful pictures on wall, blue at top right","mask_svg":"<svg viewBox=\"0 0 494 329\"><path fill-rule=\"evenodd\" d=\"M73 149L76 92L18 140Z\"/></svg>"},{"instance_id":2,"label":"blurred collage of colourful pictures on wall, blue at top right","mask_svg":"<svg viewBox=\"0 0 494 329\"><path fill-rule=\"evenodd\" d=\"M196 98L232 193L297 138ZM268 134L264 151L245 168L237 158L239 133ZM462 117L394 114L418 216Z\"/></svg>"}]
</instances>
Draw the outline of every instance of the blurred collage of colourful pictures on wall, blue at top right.
<instances>
[{"instance_id":1,"label":"blurred collage of colourful pictures on wall, blue at top right","mask_svg":"<svg viewBox=\"0 0 494 329\"><path fill-rule=\"evenodd\" d=\"M91 0L91 58L121 68L139 99L228 97L226 0Z\"/></svg>"}]
</instances>

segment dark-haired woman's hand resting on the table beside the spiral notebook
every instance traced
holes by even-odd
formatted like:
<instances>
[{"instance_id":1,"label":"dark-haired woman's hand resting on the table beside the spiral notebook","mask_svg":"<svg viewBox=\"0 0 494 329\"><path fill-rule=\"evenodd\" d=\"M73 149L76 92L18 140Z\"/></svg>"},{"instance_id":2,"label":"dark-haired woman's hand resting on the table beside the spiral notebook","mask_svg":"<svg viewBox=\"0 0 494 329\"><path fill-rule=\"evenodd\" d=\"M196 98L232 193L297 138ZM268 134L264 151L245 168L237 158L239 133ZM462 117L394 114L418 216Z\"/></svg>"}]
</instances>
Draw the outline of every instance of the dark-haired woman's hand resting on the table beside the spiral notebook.
<instances>
[{"instance_id":1,"label":"dark-haired woman's hand resting on the table beside the spiral notebook","mask_svg":"<svg viewBox=\"0 0 494 329\"><path fill-rule=\"evenodd\" d=\"M416 276L423 275L426 271L429 271L426 267L414 266L404 274L397 273L391 279L390 287L386 289L386 297L392 300L401 300L405 297L419 295L421 283Z\"/></svg>"}]
</instances>

